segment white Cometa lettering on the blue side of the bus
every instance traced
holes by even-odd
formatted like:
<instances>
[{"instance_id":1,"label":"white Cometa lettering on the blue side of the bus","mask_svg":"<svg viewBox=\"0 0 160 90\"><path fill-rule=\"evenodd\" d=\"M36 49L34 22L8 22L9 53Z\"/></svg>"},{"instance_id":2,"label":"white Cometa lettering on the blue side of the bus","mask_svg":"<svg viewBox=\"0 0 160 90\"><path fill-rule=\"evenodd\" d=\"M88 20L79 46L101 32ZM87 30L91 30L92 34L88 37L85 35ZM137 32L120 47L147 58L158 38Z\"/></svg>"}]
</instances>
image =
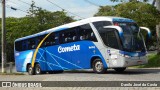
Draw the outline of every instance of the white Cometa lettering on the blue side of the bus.
<instances>
[{"instance_id":1,"label":"white Cometa lettering on the blue side of the bus","mask_svg":"<svg viewBox=\"0 0 160 90\"><path fill-rule=\"evenodd\" d=\"M78 50L80 50L80 45L75 45L75 44L73 46L69 46L69 47L62 47L62 46L58 47L59 53L72 52L72 51L78 51Z\"/></svg>"}]
</instances>

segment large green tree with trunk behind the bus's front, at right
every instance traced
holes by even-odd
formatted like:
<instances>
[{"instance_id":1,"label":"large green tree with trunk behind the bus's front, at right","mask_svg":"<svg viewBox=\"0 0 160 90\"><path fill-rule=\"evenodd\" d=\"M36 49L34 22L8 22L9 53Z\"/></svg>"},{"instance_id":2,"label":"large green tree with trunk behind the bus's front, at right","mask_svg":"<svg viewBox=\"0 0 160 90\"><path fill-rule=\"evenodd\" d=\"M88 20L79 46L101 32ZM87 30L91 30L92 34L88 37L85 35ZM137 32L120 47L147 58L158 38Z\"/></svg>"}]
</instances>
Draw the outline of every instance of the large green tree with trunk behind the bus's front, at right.
<instances>
[{"instance_id":1,"label":"large green tree with trunk behind the bus's front, at right","mask_svg":"<svg viewBox=\"0 0 160 90\"><path fill-rule=\"evenodd\" d=\"M139 26L149 27L156 41L155 25L160 21L159 11L152 5L143 2L127 2L116 6L100 7L95 16L120 16L135 20Z\"/></svg>"}]
</instances>

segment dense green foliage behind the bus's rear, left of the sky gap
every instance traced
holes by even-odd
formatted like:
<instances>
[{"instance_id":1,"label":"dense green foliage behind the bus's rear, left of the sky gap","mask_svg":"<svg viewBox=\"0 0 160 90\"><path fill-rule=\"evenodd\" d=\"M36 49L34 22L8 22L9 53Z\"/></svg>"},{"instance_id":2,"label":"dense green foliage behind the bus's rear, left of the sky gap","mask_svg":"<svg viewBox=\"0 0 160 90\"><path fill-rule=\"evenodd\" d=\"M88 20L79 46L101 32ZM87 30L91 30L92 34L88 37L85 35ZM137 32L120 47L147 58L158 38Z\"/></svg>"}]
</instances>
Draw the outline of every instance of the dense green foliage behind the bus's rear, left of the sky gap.
<instances>
[{"instance_id":1,"label":"dense green foliage behind the bus's rear, left of the sky gap","mask_svg":"<svg viewBox=\"0 0 160 90\"><path fill-rule=\"evenodd\" d=\"M73 17L67 16L64 11L50 12L43 10L36 7L34 2L32 2L28 13L29 15L22 18L6 18L7 61L14 61L15 39L74 21Z\"/></svg>"}]
</instances>

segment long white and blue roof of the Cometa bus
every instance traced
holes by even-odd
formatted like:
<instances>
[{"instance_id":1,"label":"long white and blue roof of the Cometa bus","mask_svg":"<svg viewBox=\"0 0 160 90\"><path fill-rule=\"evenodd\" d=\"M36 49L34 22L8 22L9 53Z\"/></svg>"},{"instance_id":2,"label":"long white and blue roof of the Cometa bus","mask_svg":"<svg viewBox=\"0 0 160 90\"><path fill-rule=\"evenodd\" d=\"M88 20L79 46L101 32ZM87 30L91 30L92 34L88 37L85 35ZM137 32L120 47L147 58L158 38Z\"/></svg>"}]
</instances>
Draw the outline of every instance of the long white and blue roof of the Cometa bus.
<instances>
[{"instance_id":1,"label":"long white and blue roof of the Cometa bus","mask_svg":"<svg viewBox=\"0 0 160 90\"><path fill-rule=\"evenodd\" d=\"M83 20L72 22L72 23L64 24L64 25L61 25L61 26L58 26L58 27L55 27L55 28L51 28L51 29L48 29L48 30L45 30L45 31L42 31L42 32L39 32L39 33L36 33L36 34L33 34L33 35L18 38L15 41L21 41L21 40L24 40L24 39L29 39L29 38L37 37L37 36L40 36L40 35L44 35L44 34L47 34L47 33L50 33L50 32L61 31L61 30L67 29L67 28L72 28L72 27L76 27L76 26L79 26L79 25L87 24L87 23L90 23L90 22L96 22L96 21L134 22L131 19L122 18L122 17L113 17L113 16L90 17L90 18L87 18L87 19L83 19Z\"/></svg>"}]
</instances>

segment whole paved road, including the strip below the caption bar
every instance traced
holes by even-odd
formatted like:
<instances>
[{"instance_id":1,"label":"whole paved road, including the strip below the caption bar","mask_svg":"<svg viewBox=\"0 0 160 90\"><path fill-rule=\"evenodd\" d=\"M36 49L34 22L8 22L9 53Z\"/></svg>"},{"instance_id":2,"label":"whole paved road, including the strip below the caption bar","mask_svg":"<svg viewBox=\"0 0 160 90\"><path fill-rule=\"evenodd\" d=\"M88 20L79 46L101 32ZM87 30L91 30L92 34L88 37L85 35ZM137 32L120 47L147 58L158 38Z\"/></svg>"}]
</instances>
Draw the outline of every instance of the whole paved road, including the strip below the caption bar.
<instances>
[{"instance_id":1,"label":"whole paved road, including the strip below the caption bar","mask_svg":"<svg viewBox=\"0 0 160 90\"><path fill-rule=\"evenodd\" d=\"M92 70L65 71L59 74L42 75L0 75L0 81L160 81L160 69L127 69L123 73L108 70L95 74ZM0 90L9 88L0 88ZM12 90L160 90L160 87L52 87L52 88L10 88Z\"/></svg>"}]
</instances>

